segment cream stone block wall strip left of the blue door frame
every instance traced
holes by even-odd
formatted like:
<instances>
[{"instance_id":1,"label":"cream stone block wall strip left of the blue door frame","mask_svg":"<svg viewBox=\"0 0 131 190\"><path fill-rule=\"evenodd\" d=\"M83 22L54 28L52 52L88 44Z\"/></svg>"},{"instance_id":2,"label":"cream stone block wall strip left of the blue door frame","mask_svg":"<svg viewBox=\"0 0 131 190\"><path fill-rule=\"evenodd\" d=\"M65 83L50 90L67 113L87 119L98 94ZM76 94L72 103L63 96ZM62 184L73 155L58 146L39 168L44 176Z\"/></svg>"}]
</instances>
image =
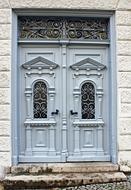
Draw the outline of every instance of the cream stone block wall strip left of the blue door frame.
<instances>
[{"instance_id":1,"label":"cream stone block wall strip left of the blue door frame","mask_svg":"<svg viewBox=\"0 0 131 190\"><path fill-rule=\"evenodd\" d=\"M0 1L0 164L11 163L11 9Z\"/></svg>"}]
</instances>

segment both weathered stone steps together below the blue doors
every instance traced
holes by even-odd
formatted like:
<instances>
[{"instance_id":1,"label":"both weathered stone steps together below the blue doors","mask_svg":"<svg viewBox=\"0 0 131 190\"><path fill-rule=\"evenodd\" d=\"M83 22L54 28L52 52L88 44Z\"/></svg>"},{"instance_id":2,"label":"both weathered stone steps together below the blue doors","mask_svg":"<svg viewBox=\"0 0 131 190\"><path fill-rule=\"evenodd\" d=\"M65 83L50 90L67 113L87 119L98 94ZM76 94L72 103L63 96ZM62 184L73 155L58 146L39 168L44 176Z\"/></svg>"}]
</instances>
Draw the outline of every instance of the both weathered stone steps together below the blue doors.
<instances>
[{"instance_id":1,"label":"both weathered stone steps together below the blue doors","mask_svg":"<svg viewBox=\"0 0 131 190\"><path fill-rule=\"evenodd\" d=\"M126 180L119 166L108 162L44 163L9 167L0 183L7 190L19 190L78 187Z\"/></svg>"}]
</instances>

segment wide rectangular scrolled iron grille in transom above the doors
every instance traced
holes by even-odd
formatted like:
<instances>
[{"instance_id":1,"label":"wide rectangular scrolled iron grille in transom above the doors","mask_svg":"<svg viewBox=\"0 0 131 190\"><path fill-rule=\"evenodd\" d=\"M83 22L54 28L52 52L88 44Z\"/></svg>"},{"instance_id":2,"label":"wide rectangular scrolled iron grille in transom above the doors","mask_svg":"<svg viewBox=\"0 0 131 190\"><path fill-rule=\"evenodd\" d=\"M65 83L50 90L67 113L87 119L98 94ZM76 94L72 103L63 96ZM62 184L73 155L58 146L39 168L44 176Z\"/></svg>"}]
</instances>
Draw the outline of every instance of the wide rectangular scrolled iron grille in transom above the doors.
<instances>
[{"instance_id":1,"label":"wide rectangular scrolled iron grille in transom above the doors","mask_svg":"<svg viewBox=\"0 0 131 190\"><path fill-rule=\"evenodd\" d=\"M19 39L108 40L108 18L20 16Z\"/></svg>"}]
</instances>

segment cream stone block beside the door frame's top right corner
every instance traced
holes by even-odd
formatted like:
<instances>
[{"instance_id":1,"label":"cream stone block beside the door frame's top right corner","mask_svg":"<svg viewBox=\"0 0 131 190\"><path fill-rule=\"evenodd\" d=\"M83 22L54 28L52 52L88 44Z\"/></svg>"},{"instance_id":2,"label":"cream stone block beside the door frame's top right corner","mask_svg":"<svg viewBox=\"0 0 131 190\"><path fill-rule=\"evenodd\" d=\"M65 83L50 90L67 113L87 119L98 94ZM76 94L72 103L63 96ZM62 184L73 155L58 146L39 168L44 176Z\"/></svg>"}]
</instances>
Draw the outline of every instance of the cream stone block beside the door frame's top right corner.
<instances>
[{"instance_id":1,"label":"cream stone block beside the door frame's top right corner","mask_svg":"<svg viewBox=\"0 0 131 190\"><path fill-rule=\"evenodd\" d=\"M131 11L116 11L116 24L131 26Z\"/></svg>"}]
</instances>

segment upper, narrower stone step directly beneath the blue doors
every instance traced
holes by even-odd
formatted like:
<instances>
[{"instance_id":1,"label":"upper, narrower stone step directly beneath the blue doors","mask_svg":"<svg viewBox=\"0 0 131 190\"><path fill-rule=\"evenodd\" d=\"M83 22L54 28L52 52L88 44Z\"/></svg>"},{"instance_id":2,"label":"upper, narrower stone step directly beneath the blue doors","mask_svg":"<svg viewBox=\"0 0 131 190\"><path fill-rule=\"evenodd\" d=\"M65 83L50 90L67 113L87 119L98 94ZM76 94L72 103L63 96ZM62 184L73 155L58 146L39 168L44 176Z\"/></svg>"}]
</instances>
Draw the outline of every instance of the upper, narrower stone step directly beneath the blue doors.
<instances>
[{"instance_id":1,"label":"upper, narrower stone step directly beneath the blue doors","mask_svg":"<svg viewBox=\"0 0 131 190\"><path fill-rule=\"evenodd\" d=\"M31 174L40 175L47 173L99 173L119 171L117 164L107 162L95 163L53 163L53 164L19 164L12 166L10 172L13 175Z\"/></svg>"}]
</instances>

